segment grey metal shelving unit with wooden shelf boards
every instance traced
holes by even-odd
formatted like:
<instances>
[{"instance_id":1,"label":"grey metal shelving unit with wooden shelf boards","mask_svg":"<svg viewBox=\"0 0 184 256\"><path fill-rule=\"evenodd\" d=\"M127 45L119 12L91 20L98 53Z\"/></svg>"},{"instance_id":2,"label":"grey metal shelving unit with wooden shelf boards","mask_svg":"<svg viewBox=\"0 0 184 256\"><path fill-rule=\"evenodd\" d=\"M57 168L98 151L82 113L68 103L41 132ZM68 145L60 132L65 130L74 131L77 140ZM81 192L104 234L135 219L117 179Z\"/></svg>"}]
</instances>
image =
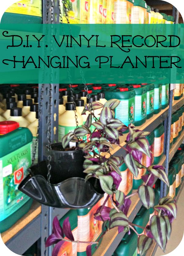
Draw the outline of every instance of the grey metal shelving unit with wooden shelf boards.
<instances>
[{"instance_id":1,"label":"grey metal shelving unit with wooden shelf boards","mask_svg":"<svg viewBox=\"0 0 184 256\"><path fill-rule=\"evenodd\" d=\"M175 12L175 20L178 21L178 11ZM52 17L55 17L52 23L59 23L59 0L43 0L43 23L51 23ZM43 90L44 89L44 90ZM51 95L48 93L51 89ZM51 142L57 141L57 132L54 133L54 129L58 127L58 101L59 101L59 84L39 84L39 107L40 108L41 118L39 122L39 160L42 161L46 159L47 151L47 142L48 142L48 103L49 100L52 104L52 120L51 120ZM172 92L171 92L172 96ZM171 97L172 98L172 97ZM160 161L161 165L168 163L176 152L178 146L181 144L184 139L184 131L182 132L178 141L172 146L171 150L167 148L169 136L170 136L170 123L171 123L171 114L174 113L178 108L184 105L184 97L178 101L174 101L172 106L171 100L170 105L166 109L162 110L159 114L154 115L151 120L147 120L142 126L138 127L140 130L146 130L151 132L154 130L160 123L166 120L165 131L166 143L164 145L163 158ZM56 118L54 118L56 115ZM168 118L169 117L169 118ZM120 139L121 146L125 145L126 135L122 136ZM167 149L167 150L166 150ZM121 154L122 150L120 147L115 146L111 152L112 154ZM106 157L109 157L106 154ZM182 184L183 187L183 184ZM164 190L163 190L164 191ZM163 192L164 193L164 192ZM179 196L179 194L178 194ZM135 218L137 212L142 206L138 196L132 197L132 205L128 212L129 220L132 222ZM17 254L23 254L34 242L38 241L40 247L41 256L51 256L52 247L50 246L47 250L45 249L45 240L52 233L52 220L58 215L58 218L62 218L68 209L59 209L47 207L40 205L38 203L33 203L31 210L21 218L17 223L13 225L11 229L5 231L1 234L3 241L6 246ZM18 228L19 227L19 228ZM124 233L118 234L116 229L113 229L108 232L103 238L103 241L97 251L94 253L94 256L105 255L111 256L119 242L123 238ZM150 248L151 254L155 254L155 247Z\"/></svg>"}]
</instances>

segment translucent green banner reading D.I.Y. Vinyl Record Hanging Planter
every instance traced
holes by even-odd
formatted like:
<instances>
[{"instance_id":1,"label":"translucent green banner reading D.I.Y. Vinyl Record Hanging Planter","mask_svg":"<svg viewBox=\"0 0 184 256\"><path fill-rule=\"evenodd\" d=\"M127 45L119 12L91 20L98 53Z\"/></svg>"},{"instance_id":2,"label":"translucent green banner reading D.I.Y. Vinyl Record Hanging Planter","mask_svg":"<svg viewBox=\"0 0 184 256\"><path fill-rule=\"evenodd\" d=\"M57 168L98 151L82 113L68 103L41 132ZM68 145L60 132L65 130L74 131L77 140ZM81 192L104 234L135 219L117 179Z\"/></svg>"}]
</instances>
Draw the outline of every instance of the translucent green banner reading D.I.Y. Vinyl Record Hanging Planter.
<instances>
[{"instance_id":1,"label":"translucent green banner reading D.I.Y. Vinyl Record Hanging Planter","mask_svg":"<svg viewBox=\"0 0 184 256\"><path fill-rule=\"evenodd\" d=\"M1 83L184 83L184 24L0 24Z\"/></svg>"}]
</instances>

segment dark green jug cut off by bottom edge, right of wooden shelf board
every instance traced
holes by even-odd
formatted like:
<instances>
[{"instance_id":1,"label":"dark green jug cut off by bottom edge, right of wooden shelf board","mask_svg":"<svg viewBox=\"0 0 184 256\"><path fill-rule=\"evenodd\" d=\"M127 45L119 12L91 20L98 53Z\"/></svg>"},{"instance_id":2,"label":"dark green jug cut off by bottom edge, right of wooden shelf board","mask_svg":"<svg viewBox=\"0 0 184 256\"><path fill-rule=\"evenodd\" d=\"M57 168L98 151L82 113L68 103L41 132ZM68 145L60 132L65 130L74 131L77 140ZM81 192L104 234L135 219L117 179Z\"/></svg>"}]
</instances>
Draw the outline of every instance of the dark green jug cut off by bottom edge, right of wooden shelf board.
<instances>
[{"instance_id":1,"label":"dark green jug cut off by bottom edge, right of wooden shelf board","mask_svg":"<svg viewBox=\"0 0 184 256\"><path fill-rule=\"evenodd\" d=\"M136 233L130 230L130 235L124 235L113 256L137 256L137 239Z\"/></svg>"}]
</instances>

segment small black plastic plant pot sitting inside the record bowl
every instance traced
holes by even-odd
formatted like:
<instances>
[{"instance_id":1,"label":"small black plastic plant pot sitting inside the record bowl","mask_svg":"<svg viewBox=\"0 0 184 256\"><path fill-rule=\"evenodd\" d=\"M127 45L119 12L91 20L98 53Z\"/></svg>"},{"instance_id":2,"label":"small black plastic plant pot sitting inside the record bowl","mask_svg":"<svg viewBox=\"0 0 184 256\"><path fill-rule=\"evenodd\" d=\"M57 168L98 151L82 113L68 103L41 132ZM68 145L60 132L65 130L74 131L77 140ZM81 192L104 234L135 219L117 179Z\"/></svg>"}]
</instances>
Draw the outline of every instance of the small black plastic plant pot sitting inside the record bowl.
<instances>
[{"instance_id":1,"label":"small black plastic plant pot sitting inside the record bowl","mask_svg":"<svg viewBox=\"0 0 184 256\"><path fill-rule=\"evenodd\" d=\"M73 177L85 178L83 173L85 158L81 149L64 151L61 142L53 143L51 155L54 161L52 172L57 176L58 183Z\"/></svg>"}]
</instances>

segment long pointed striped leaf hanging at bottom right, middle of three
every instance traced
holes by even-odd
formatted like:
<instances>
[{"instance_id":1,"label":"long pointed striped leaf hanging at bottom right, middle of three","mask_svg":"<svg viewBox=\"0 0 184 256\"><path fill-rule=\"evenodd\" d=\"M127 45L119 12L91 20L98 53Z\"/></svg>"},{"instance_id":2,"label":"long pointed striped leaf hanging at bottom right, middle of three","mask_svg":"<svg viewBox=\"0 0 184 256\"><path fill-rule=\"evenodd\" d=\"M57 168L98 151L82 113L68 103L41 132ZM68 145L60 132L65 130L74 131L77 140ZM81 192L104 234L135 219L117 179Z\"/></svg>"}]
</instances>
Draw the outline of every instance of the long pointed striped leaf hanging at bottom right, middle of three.
<instances>
[{"instance_id":1,"label":"long pointed striped leaf hanging at bottom right, middle of three","mask_svg":"<svg viewBox=\"0 0 184 256\"><path fill-rule=\"evenodd\" d=\"M167 225L163 216L153 215L150 219L150 230L155 241L160 248L165 252L167 244Z\"/></svg>"}]
</instances>

